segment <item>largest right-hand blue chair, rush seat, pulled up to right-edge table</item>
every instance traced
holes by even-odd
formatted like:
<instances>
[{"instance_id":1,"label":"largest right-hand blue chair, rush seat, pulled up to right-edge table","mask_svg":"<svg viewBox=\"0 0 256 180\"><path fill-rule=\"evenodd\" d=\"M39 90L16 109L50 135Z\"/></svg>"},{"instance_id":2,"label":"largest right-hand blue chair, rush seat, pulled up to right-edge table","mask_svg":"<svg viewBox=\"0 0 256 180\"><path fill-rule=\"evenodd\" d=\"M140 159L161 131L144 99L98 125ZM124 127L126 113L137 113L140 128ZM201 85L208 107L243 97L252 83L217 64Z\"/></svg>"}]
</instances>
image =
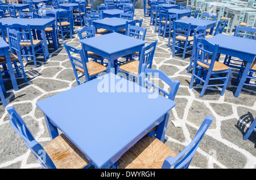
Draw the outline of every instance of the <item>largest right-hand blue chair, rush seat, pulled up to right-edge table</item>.
<instances>
[{"instance_id":1,"label":"largest right-hand blue chair, rush seat, pulled up to right-edge table","mask_svg":"<svg viewBox=\"0 0 256 180\"><path fill-rule=\"evenodd\" d=\"M207 40L200 38L197 38L194 43L196 43L196 49L189 88L191 89L193 87L194 80L196 79L197 84L199 82L204 83L200 97L204 96L207 87L214 86L222 86L220 95L223 96L228 85L231 68L221 62L216 61L218 45L212 45ZM224 76L224 74L226 75ZM209 81L212 83L209 84ZM220 83L220 81L222 82Z\"/></svg>"}]
</instances>

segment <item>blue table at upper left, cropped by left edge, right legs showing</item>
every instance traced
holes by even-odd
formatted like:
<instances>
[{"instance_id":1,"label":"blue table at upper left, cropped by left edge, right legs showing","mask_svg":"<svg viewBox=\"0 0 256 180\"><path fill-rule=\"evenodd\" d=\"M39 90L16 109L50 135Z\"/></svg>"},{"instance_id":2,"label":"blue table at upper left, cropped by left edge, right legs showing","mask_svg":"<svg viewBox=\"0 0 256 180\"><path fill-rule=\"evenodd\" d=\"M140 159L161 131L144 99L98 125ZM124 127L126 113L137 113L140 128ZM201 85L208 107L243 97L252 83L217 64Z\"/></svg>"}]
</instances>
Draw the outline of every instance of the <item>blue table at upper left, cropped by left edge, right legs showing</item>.
<instances>
[{"instance_id":1,"label":"blue table at upper left, cropped by left edge, right legs showing","mask_svg":"<svg viewBox=\"0 0 256 180\"><path fill-rule=\"evenodd\" d=\"M12 25L12 24L20 24L20 25L30 25L31 29L39 30L42 33L43 37L43 46L44 51L46 53L46 57L49 58L49 51L46 41L46 33L44 29L50 27L52 25L53 29L55 29L55 19L42 19L42 18L34 18L34 19L24 19L24 18L1 18L0 23L2 23L1 29L5 29L5 24ZM53 40L53 45L55 49L58 49L57 46L57 36L56 32L53 31L53 36L55 39Z\"/></svg>"}]
</instances>

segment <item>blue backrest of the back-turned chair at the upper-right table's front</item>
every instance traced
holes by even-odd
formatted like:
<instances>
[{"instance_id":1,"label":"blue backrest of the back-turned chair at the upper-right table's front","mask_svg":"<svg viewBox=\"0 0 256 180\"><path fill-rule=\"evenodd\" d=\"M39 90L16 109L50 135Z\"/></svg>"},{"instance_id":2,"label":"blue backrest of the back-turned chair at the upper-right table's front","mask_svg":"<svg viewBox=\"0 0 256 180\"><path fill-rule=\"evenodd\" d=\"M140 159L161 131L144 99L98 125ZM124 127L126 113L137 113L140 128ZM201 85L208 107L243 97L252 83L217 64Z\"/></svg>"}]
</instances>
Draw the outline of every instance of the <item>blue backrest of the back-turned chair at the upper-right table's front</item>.
<instances>
[{"instance_id":1,"label":"blue backrest of the back-turned chair at the upper-right table's front","mask_svg":"<svg viewBox=\"0 0 256 180\"><path fill-rule=\"evenodd\" d=\"M176 40L176 36L184 36L186 41L188 41L188 36L191 30L191 23L180 23L172 21L174 24L174 42Z\"/></svg>"}]
</instances>

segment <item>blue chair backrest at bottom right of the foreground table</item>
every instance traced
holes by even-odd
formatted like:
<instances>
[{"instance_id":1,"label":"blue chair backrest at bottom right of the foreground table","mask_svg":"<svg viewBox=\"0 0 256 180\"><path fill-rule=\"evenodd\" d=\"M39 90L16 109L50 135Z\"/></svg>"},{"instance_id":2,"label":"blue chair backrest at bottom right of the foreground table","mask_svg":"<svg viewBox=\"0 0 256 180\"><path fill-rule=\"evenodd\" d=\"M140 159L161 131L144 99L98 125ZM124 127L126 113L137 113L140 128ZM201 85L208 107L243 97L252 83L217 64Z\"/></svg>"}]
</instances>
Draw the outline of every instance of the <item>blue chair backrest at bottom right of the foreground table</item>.
<instances>
[{"instance_id":1,"label":"blue chair backrest at bottom right of the foreground table","mask_svg":"<svg viewBox=\"0 0 256 180\"><path fill-rule=\"evenodd\" d=\"M199 144L205 135L205 132L208 130L210 124L212 123L213 118L207 116L199 130L197 131L195 138L185 147L183 151L179 153L176 157L167 157L166 160L163 162L162 168L174 168L174 169L187 169L193 156L196 153Z\"/></svg>"}]
</instances>

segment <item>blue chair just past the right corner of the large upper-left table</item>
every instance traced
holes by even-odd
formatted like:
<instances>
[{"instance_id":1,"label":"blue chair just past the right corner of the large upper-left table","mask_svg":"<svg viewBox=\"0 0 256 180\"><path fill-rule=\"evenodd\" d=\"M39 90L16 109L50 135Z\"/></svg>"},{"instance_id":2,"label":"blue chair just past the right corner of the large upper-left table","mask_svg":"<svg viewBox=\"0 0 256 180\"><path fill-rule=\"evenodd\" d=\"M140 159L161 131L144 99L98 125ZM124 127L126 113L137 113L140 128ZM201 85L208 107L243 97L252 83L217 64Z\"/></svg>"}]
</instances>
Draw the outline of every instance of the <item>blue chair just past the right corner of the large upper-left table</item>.
<instances>
[{"instance_id":1,"label":"blue chair just past the right corner of the large upper-left table","mask_svg":"<svg viewBox=\"0 0 256 180\"><path fill-rule=\"evenodd\" d=\"M57 35L62 37L62 40L64 41L64 33L67 34L67 36L70 36L72 38L73 33L73 15L72 11L59 11L56 12L57 16Z\"/></svg>"}]
</instances>

